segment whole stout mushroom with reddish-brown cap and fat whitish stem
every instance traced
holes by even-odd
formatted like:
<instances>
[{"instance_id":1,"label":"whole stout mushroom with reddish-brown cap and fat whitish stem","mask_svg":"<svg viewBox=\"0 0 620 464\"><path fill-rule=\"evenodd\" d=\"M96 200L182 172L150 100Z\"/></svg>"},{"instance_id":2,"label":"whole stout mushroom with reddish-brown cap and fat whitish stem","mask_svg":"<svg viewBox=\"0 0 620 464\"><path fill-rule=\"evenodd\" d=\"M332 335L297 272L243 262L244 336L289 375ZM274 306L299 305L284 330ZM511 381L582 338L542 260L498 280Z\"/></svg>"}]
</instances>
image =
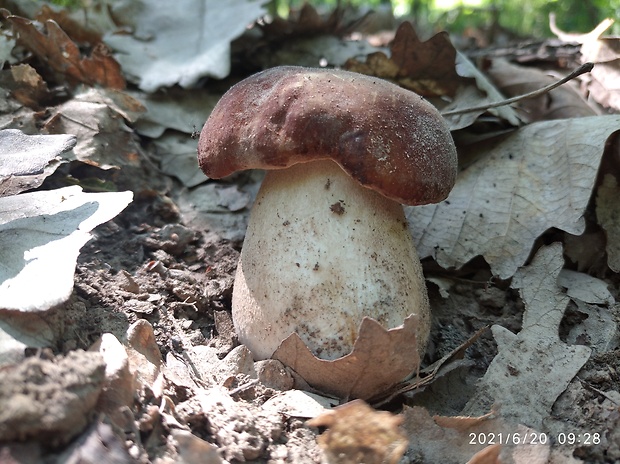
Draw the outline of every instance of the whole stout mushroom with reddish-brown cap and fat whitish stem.
<instances>
[{"instance_id":1,"label":"whole stout mushroom with reddish-brown cap and fat whitish stem","mask_svg":"<svg viewBox=\"0 0 620 464\"><path fill-rule=\"evenodd\" d=\"M430 332L420 260L401 203L452 189L450 132L422 97L376 77L293 66L234 85L198 142L204 173L267 173L250 213L232 311L255 359L297 333L313 354L349 354L364 317Z\"/></svg>"}]
</instances>

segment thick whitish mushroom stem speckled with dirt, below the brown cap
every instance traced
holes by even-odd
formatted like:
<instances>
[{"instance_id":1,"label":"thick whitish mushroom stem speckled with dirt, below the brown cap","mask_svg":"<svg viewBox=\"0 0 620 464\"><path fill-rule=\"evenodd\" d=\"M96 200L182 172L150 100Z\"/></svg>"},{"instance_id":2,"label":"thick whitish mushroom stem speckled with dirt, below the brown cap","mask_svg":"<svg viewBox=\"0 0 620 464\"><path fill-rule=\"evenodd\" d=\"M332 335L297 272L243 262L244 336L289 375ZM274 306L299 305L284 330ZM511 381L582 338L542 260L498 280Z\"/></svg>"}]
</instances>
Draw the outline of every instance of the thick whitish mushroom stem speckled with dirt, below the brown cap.
<instances>
[{"instance_id":1,"label":"thick whitish mushroom stem speckled with dirt, below the brown cap","mask_svg":"<svg viewBox=\"0 0 620 464\"><path fill-rule=\"evenodd\" d=\"M258 193L233 291L239 340L271 357L296 332L323 359L353 348L364 316L386 329L419 317L430 330L420 260L400 204L333 161L269 171Z\"/></svg>"}]
</instances>

